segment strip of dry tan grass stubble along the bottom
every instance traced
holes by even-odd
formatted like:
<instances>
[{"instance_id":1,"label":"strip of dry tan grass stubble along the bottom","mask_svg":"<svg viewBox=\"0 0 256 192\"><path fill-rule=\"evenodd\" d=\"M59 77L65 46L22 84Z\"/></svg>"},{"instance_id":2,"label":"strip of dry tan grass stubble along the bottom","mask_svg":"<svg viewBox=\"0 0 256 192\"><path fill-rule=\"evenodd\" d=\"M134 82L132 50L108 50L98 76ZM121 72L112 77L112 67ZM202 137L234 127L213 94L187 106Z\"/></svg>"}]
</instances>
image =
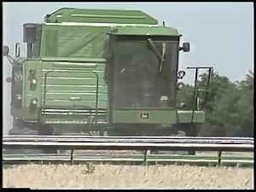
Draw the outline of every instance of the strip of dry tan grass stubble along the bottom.
<instances>
[{"instance_id":1,"label":"strip of dry tan grass stubble along the bottom","mask_svg":"<svg viewBox=\"0 0 256 192\"><path fill-rule=\"evenodd\" d=\"M90 168L89 168L90 169ZM3 170L3 187L253 188L253 169L200 166L27 165Z\"/></svg>"}]
</instances>

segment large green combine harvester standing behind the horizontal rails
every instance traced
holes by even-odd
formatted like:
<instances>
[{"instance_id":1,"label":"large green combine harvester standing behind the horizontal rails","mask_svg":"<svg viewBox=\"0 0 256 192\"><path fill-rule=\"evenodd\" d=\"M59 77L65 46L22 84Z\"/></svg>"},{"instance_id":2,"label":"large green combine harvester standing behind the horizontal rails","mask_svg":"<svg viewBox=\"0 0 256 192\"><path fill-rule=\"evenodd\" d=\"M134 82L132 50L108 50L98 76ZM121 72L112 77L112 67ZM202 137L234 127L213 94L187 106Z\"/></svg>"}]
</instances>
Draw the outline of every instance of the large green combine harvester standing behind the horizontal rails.
<instances>
[{"instance_id":1,"label":"large green combine harvester standing behind the horizontal rails","mask_svg":"<svg viewBox=\"0 0 256 192\"><path fill-rule=\"evenodd\" d=\"M12 65L9 135L198 135L202 67L193 67L195 108L184 109L178 54L189 43L180 47L176 28L139 10L58 9L23 29L25 58L20 44L15 58L3 46Z\"/></svg>"}]
</instances>

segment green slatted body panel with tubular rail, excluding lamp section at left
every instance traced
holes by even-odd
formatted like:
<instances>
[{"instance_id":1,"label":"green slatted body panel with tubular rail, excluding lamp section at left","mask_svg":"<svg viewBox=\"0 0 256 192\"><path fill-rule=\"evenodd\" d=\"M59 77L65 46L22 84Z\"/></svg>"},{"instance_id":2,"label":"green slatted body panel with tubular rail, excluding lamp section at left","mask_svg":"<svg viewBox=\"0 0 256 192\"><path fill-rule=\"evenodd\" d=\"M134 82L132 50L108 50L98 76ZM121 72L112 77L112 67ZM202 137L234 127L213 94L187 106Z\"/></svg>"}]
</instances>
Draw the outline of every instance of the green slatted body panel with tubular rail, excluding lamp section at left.
<instances>
[{"instance_id":1,"label":"green slatted body panel with tubular rail, excluding lamp section at left","mask_svg":"<svg viewBox=\"0 0 256 192\"><path fill-rule=\"evenodd\" d=\"M79 120L90 115L106 121L108 90L104 81L105 61L46 61L42 69L42 118ZM51 122L54 123L54 122Z\"/></svg>"}]
</instances>

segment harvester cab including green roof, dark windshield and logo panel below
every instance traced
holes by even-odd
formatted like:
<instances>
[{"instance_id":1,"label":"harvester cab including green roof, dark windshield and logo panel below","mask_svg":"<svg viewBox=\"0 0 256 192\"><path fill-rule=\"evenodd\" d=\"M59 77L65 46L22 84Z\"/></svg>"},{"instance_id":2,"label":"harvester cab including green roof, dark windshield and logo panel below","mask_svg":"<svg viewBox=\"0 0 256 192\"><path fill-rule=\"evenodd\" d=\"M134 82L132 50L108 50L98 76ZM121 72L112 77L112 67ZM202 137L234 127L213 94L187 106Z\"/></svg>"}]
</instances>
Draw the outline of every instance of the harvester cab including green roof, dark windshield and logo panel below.
<instances>
[{"instance_id":1,"label":"harvester cab including green roof, dark windshield and logo panel below","mask_svg":"<svg viewBox=\"0 0 256 192\"><path fill-rule=\"evenodd\" d=\"M113 127L136 127L136 131L146 129L144 133L152 134L155 130L163 134L156 127L165 125L168 135L175 130L173 125L180 123L179 117L189 115L176 109L177 90L183 88L180 79L185 75L178 71L178 54L189 52L189 43L180 47L181 35L167 26L119 26L109 35L109 122ZM203 120L201 113L196 113L196 118Z\"/></svg>"}]
</instances>

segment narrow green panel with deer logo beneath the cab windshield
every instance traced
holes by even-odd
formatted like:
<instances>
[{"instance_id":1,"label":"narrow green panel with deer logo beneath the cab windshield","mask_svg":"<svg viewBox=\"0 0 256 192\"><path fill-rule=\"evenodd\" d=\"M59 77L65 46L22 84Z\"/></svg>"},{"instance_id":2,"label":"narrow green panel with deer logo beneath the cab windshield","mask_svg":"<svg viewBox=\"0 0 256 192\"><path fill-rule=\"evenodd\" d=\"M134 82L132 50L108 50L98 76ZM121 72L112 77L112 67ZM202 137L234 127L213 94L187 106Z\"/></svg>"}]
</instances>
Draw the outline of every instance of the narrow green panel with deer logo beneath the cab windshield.
<instances>
[{"instance_id":1,"label":"narrow green panel with deer logo beneath the cab windshield","mask_svg":"<svg viewBox=\"0 0 256 192\"><path fill-rule=\"evenodd\" d=\"M147 119L141 118L141 113L148 113ZM129 124L177 124L191 123L192 111L160 110L159 109L123 109L113 110L113 123ZM193 123L202 123L205 120L205 113L195 111Z\"/></svg>"}]
</instances>

